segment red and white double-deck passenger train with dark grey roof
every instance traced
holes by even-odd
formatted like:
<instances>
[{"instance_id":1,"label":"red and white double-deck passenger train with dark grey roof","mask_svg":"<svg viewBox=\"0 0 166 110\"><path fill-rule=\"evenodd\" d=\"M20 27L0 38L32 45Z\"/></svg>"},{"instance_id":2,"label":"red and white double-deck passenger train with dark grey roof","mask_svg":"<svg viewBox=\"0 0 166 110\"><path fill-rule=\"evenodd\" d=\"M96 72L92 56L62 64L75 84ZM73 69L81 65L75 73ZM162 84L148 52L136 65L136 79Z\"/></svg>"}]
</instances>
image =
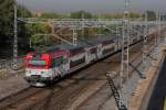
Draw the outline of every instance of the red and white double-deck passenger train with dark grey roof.
<instances>
[{"instance_id":1,"label":"red and white double-deck passenger train with dark grey roof","mask_svg":"<svg viewBox=\"0 0 166 110\"><path fill-rule=\"evenodd\" d=\"M143 36L131 37L129 43L142 41ZM44 87L98 59L122 50L122 36L96 36L80 40L77 45L56 44L42 52L25 56L25 80L35 87Z\"/></svg>"}]
</instances>

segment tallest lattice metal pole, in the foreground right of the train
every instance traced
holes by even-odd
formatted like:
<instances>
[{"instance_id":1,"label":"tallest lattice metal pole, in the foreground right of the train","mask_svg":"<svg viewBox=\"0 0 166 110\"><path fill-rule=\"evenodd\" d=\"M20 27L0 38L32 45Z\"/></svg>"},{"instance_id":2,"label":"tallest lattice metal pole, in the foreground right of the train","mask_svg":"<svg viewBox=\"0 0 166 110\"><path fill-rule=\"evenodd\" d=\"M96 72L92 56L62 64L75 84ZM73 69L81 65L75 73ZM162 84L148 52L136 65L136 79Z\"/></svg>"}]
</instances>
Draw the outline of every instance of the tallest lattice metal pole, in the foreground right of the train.
<instances>
[{"instance_id":1,"label":"tallest lattice metal pole, in the foreground right of the train","mask_svg":"<svg viewBox=\"0 0 166 110\"><path fill-rule=\"evenodd\" d=\"M128 108L127 88L124 90L123 80L128 80L128 58L129 58L129 0L125 0L124 24L123 24L123 40L122 40L122 66L121 66L121 90L120 90L120 106ZM125 50L126 47L126 50ZM127 87L127 86L126 86Z\"/></svg>"}]
</instances>

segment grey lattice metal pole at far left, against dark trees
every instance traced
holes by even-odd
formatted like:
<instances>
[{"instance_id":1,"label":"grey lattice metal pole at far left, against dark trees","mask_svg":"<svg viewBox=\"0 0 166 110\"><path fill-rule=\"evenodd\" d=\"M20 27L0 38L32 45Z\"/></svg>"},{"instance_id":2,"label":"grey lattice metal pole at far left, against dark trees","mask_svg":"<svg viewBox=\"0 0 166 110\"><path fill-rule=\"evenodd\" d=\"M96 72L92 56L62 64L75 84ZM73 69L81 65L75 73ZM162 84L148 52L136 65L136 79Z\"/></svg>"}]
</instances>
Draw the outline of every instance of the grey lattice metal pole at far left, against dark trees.
<instances>
[{"instance_id":1,"label":"grey lattice metal pole at far left, against dark trees","mask_svg":"<svg viewBox=\"0 0 166 110\"><path fill-rule=\"evenodd\" d=\"M18 66L18 8L17 8L17 1L14 3L14 37L13 37L13 68Z\"/></svg>"}]
</instances>

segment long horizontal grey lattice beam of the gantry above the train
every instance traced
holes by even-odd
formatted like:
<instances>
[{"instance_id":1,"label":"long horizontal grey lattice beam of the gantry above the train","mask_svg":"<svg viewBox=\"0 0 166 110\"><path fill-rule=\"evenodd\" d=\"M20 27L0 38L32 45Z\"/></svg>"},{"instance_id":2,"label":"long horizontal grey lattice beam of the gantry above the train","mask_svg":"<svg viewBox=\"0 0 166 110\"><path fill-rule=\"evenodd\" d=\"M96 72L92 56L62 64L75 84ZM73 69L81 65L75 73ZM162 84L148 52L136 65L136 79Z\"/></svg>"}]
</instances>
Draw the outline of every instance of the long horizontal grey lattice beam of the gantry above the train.
<instances>
[{"instance_id":1,"label":"long horizontal grey lattice beam of the gantry above the train","mask_svg":"<svg viewBox=\"0 0 166 110\"><path fill-rule=\"evenodd\" d=\"M56 28L102 28L105 25L122 24L123 19L42 19L42 18L18 18L19 21L27 23L48 23L52 22ZM84 23L84 26L82 25ZM160 22L166 24L166 22ZM153 25L154 21L143 21L142 19L131 20L132 25Z\"/></svg>"}]
</instances>

